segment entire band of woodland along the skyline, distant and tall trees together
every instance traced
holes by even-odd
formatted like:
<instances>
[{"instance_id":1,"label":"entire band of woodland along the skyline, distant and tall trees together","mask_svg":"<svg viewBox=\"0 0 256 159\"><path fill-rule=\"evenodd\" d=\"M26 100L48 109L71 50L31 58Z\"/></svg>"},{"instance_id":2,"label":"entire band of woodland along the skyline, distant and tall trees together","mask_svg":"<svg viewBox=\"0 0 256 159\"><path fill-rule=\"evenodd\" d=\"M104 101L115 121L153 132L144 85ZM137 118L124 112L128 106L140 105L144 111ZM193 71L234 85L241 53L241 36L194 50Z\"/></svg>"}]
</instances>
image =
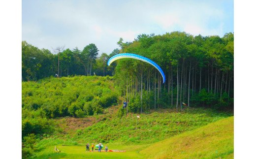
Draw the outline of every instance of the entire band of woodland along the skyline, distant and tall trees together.
<instances>
[{"instance_id":1,"label":"entire band of woodland along the skyline, distant and tall trees together","mask_svg":"<svg viewBox=\"0 0 256 159\"><path fill-rule=\"evenodd\" d=\"M117 44L120 50L97 57L95 44L87 45L82 51L57 48L57 54L52 54L23 41L22 79L115 74L124 100L129 101L127 111L133 112L178 108L182 102L188 106L233 105L233 33L223 37L193 36L186 32L141 34L132 42L123 42L120 38ZM162 84L159 72L150 64L134 59L107 66L108 59L119 53L134 53L155 61L164 71L166 82Z\"/></svg>"}]
</instances>

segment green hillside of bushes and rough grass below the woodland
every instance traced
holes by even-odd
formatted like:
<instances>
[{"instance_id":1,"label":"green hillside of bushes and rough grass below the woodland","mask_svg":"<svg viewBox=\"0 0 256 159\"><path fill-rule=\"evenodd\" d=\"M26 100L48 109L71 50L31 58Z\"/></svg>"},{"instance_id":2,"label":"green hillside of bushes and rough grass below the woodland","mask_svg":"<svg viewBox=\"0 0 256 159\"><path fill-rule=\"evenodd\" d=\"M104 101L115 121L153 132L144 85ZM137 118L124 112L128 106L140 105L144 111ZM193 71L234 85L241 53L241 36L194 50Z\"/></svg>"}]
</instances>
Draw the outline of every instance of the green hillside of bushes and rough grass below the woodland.
<instances>
[{"instance_id":1,"label":"green hillside of bushes and rough grass below the woodland","mask_svg":"<svg viewBox=\"0 0 256 159\"><path fill-rule=\"evenodd\" d=\"M130 151L129 158L143 157L138 152L149 144L233 115L204 107L177 110L171 106L137 114L131 111L132 101L127 114L121 91L114 77L108 76L22 82L23 158L77 158L88 142ZM55 145L67 154L56 154ZM78 156L70 156L68 146Z\"/></svg>"}]
</instances>

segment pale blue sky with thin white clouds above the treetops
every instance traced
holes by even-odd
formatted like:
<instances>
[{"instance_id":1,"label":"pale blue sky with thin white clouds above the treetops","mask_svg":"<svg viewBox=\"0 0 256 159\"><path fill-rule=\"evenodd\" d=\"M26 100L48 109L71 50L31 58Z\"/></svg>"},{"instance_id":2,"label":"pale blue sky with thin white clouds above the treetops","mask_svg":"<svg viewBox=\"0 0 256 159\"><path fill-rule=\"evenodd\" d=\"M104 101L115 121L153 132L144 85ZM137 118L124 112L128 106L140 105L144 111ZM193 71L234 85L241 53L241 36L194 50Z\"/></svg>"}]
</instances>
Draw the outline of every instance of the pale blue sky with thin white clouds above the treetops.
<instances>
[{"instance_id":1,"label":"pale blue sky with thin white clouds above the treetops","mask_svg":"<svg viewBox=\"0 0 256 159\"><path fill-rule=\"evenodd\" d=\"M22 0L22 40L52 51L95 43L111 53L120 37L181 31L234 32L233 0Z\"/></svg>"}]
</instances>

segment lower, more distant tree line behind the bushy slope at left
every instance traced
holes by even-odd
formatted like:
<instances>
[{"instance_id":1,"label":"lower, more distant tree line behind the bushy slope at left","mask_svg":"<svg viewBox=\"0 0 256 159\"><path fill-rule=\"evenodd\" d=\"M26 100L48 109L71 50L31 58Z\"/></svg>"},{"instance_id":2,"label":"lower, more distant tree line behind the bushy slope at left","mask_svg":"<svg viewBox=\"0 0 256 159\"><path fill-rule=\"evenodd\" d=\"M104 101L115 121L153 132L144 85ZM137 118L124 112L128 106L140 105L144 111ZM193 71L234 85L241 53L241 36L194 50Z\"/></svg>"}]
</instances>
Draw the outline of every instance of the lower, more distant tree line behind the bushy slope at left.
<instances>
[{"instance_id":1,"label":"lower, more distant tree line behind the bushy slope at left","mask_svg":"<svg viewBox=\"0 0 256 159\"><path fill-rule=\"evenodd\" d=\"M102 53L95 44L89 44L81 51L77 47L70 50L57 47L53 53L47 49L38 49L26 41L22 41L22 80L38 80L49 76L73 75L112 75L114 67L107 67L109 58L119 53L113 50L110 55Z\"/></svg>"}]
</instances>

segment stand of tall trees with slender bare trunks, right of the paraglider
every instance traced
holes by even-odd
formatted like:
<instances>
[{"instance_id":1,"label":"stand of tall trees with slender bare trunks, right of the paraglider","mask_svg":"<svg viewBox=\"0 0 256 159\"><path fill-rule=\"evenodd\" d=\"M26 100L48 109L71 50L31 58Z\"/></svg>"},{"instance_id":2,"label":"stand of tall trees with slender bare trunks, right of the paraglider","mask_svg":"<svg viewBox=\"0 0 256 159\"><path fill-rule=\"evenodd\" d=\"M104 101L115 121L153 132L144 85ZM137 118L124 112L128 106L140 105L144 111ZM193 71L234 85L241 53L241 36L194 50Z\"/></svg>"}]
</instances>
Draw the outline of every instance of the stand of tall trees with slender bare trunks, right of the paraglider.
<instances>
[{"instance_id":1,"label":"stand of tall trees with slender bare trunks, right of the paraglider","mask_svg":"<svg viewBox=\"0 0 256 159\"><path fill-rule=\"evenodd\" d=\"M150 64L120 60L116 77L128 110L143 112L158 107L223 107L233 105L234 35L192 36L186 32L139 35L133 42L118 44L121 52L147 57L160 65L166 76Z\"/></svg>"}]
</instances>

